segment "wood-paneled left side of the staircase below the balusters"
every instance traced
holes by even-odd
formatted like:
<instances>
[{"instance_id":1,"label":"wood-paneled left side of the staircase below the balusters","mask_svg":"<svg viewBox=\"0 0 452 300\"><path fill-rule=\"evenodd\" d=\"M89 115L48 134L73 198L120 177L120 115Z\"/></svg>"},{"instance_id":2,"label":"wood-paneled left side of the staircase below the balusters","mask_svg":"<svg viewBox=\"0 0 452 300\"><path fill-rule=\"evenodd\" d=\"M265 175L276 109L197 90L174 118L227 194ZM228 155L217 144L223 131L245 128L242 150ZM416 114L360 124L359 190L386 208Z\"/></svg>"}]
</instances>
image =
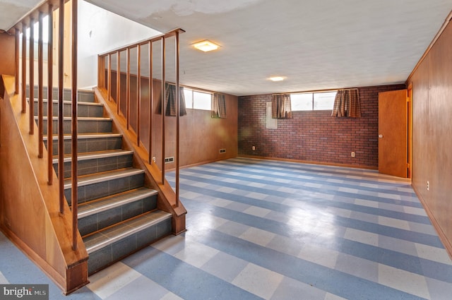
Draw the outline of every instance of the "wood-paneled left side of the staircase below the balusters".
<instances>
[{"instance_id":1,"label":"wood-paneled left side of the staircase below the balusters","mask_svg":"<svg viewBox=\"0 0 452 300\"><path fill-rule=\"evenodd\" d=\"M47 184L47 161L38 158L37 136L29 134L29 110L22 113L19 95L13 95L14 77L2 80L0 229L69 293L88 283L88 253L80 234L78 250L71 249L72 215L66 202L59 215L57 175L53 173L53 185Z\"/></svg>"}]
</instances>

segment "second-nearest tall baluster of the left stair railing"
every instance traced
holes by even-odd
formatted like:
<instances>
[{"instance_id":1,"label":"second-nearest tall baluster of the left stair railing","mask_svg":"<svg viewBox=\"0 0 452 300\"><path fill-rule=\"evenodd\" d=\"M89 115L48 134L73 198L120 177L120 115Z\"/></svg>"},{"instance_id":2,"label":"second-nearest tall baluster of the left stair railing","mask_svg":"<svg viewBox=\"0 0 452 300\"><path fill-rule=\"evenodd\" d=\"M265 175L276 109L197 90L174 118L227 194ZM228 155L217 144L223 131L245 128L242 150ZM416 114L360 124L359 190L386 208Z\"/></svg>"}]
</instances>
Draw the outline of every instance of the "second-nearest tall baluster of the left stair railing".
<instances>
[{"instance_id":1,"label":"second-nearest tall baluster of the left stair railing","mask_svg":"<svg viewBox=\"0 0 452 300\"><path fill-rule=\"evenodd\" d=\"M59 212L64 214L64 0L59 1L58 32L58 176L59 176ZM73 199L72 199L73 202Z\"/></svg>"}]
</instances>

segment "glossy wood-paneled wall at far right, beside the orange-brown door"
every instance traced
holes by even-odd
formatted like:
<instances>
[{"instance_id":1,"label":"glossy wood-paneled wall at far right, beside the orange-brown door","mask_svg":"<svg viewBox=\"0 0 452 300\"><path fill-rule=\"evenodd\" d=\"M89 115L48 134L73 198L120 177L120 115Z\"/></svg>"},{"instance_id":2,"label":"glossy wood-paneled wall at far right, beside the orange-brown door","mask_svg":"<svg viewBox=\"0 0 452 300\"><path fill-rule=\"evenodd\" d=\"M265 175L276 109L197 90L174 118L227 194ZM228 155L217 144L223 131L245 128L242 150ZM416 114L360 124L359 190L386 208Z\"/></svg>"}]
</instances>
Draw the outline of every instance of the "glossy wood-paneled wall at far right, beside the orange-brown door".
<instances>
[{"instance_id":1,"label":"glossy wood-paneled wall at far right, beside the orange-brown door","mask_svg":"<svg viewBox=\"0 0 452 300\"><path fill-rule=\"evenodd\" d=\"M412 85L412 186L452 257L451 49L449 23L408 84Z\"/></svg>"}]
</instances>

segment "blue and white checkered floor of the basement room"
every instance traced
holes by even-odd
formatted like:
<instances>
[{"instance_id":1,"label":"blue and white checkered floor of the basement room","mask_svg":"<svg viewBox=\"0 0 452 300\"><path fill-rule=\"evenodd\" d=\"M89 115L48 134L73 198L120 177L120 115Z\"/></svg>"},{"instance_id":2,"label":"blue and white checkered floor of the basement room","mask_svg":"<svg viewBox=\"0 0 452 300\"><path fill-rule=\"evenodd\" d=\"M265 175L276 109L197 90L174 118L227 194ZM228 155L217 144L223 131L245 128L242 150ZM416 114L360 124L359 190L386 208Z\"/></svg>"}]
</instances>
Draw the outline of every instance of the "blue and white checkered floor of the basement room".
<instances>
[{"instance_id":1,"label":"blue and white checkered floor of the basement room","mask_svg":"<svg viewBox=\"0 0 452 300\"><path fill-rule=\"evenodd\" d=\"M236 158L182 169L180 197L185 234L69 296L0 234L0 283L49 283L50 299L452 299L451 259L408 181Z\"/></svg>"}]
</instances>

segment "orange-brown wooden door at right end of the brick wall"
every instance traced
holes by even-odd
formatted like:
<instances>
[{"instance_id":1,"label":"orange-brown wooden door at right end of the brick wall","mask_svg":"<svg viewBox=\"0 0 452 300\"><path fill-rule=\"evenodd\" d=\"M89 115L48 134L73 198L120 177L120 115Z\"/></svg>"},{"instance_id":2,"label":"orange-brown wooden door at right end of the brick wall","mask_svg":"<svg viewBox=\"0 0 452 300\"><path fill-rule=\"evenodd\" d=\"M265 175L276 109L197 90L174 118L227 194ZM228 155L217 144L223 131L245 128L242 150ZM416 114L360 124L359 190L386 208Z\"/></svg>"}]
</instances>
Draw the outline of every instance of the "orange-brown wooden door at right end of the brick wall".
<instances>
[{"instance_id":1,"label":"orange-brown wooden door at right end of the brick wall","mask_svg":"<svg viewBox=\"0 0 452 300\"><path fill-rule=\"evenodd\" d=\"M407 90L379 93L379 172L408 177Z\"/></svg>"}]
</instances>

